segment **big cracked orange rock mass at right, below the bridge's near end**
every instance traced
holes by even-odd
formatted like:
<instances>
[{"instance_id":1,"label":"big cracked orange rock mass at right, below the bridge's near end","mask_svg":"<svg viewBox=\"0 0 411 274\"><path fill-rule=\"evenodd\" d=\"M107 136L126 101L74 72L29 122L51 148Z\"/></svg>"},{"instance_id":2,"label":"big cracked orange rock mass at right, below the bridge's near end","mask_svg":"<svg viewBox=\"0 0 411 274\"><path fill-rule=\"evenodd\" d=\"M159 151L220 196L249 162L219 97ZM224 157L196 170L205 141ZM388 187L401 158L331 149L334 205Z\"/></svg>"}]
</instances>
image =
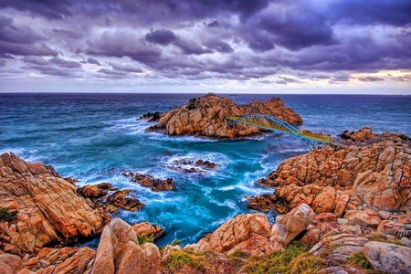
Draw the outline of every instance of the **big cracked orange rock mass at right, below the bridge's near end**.
<instances>
[{"instance_id":1,"label":"big cracked orange rock mass at right, below the bridge's near end","mask_svg":"<svg viewBox=\"0 0 411 274\"><path fill-rule=\"evenodd\" d=\"M291 208L306 203L316 213L337 217L364 206L395 211L411 206L410 155L409 143L401 138L328 147L284 161L259 183L275 187Z\"/></svg>"}]
</instances>

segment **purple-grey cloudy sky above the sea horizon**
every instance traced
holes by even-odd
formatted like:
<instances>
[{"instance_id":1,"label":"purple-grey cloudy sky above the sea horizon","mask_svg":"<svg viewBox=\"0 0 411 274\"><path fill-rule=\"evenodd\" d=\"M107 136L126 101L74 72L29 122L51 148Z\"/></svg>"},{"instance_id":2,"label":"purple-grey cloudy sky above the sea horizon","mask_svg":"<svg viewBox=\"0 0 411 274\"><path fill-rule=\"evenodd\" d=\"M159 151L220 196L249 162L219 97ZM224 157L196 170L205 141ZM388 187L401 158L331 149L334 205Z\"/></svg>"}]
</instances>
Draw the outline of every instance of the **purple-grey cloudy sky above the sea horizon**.
<instances>
[{"instance_id":1,"label":"purple-grey cloudy sky above the sea horizon","mask_svg":"<svg viewBox=\"0 0 411 274\"><path fill-rule=\"evenodd\" d=\"M0 92L411 95L410 0L0 0Z\"/></svg>"}]
</instances>

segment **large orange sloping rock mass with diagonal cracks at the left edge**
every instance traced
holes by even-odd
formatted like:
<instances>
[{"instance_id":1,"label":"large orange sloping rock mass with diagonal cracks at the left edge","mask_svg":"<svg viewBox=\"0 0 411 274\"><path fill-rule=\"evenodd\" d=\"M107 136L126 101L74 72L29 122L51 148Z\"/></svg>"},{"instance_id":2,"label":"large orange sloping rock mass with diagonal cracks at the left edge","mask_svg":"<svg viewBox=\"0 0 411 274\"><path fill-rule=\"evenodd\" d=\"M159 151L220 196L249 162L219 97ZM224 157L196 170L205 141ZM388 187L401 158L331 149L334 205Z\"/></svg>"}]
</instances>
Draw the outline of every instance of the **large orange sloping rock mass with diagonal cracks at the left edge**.
<instances>
[{"instance_id":1,"label":"large orange sloping rock mass with diagonal cracks at the left edge","mask_svg":"<svg viewBox=\"0 0 411 274\"><path fill-rule=\"evenodd\" d=\"M0 222L0 248L14 254L96 236L110 218L76 195L51 166L26 163L13 153L0 156L0 207L18 212Z\"/></svg>"}]
</instances>

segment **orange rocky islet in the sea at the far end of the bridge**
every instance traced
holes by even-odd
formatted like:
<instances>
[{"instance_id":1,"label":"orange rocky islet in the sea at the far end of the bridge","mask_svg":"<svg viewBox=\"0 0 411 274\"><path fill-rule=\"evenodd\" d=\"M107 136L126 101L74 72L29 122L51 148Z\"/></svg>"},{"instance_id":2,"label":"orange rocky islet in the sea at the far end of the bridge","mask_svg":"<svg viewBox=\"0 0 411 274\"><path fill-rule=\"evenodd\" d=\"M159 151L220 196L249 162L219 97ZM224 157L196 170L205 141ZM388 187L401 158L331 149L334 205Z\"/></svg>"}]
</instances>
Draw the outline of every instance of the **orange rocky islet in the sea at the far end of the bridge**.
<instances>
[{"instance_id":1,"label":"orange rocky islet in the sea at the far end of the bridge","mask_svg":"<svg viewBox=\"0 0 411 274\"><path fill-rule=\"evenodd\" d=\"M282 100L273 98L265 102L253 100L246 106L224 97L206 95L192 99L188 104L163 114L151 130L163 130L170 135L202 135L217 138L234 138L258 134L260 130L251 126L231 125L227 115L262 113L278 117L293 125L302 123L300 115L287 108Z\"/></svg>"}]
</instances>

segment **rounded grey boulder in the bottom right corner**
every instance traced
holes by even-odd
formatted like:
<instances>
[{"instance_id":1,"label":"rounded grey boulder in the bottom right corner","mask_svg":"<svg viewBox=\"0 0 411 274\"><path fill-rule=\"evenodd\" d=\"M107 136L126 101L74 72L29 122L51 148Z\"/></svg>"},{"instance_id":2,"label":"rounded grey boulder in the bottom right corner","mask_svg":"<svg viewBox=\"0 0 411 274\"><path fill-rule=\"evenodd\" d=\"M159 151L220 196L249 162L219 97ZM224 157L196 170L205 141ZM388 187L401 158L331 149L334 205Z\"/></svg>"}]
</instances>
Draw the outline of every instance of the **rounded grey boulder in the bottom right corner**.
<instances>
[{"instance_id":1,"label":"rounded grey boulder in the bottom right corner","mask_svg":"<svg viewBox=\"0 0 411 274\"><path fill-rule=\"evenodd\" d=\"M382 242L364 245L364 256L375 270L385 273L411 273L411 248Z\"/></svg>"}]
</instances>

